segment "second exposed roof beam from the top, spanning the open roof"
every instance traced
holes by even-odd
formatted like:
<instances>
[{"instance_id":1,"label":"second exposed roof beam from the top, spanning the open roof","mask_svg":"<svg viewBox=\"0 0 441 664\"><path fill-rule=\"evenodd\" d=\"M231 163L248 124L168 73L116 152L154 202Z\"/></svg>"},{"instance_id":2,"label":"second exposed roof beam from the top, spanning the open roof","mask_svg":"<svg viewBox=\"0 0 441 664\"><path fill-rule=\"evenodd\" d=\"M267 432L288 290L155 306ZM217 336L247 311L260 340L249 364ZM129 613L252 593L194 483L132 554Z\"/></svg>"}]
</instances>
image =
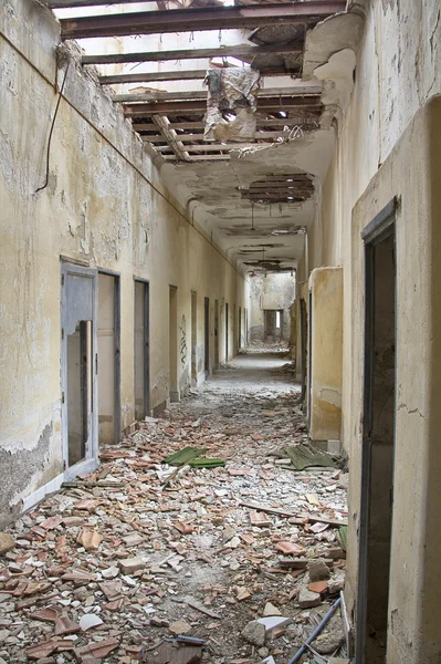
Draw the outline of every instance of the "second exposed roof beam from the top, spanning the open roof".
<instances>
[{"instance_id":1,"label":"second exposed roof beam from the top, spanning the open roof","mask_svg":"<svg viewBox=\"0 0 441 664\"><path fill-rule=\"evenodd\" d=\"M269 53L297 53L301 55L303 51L300 50L297 42L291 44L265 44L263 46L237 44L212 49L178 49L176 51L83 55L81 61L83 64L124 64L129 62L166 62L167 60L200 60L204 58L254 58L255 55L266 55Z\"/></svg>"}]
</instances>

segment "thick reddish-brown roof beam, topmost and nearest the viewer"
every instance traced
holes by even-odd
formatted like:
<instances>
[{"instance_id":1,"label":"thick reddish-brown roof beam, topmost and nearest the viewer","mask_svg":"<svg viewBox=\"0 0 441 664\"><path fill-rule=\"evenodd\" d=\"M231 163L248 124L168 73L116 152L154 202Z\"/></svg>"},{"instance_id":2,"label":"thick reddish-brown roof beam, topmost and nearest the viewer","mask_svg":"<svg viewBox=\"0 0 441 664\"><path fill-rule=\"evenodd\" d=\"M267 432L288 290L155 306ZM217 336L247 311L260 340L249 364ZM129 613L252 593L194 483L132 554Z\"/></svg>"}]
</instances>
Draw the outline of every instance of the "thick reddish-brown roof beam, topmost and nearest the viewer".
<instances>
[{"instance_id":1,"label":"thick reddish-brown roof beam, topmost and nearest the viewer","mask_svg":"<svg viewBox=\"0 0 441 664\"><path fill-rule=\"evenodd\" d=\"M346 0L294 1L288 4L166 9L78 17L61 19L60 23L62 39L82 39L314 23L345 9Z\"/></svg>"}]
</instances>

